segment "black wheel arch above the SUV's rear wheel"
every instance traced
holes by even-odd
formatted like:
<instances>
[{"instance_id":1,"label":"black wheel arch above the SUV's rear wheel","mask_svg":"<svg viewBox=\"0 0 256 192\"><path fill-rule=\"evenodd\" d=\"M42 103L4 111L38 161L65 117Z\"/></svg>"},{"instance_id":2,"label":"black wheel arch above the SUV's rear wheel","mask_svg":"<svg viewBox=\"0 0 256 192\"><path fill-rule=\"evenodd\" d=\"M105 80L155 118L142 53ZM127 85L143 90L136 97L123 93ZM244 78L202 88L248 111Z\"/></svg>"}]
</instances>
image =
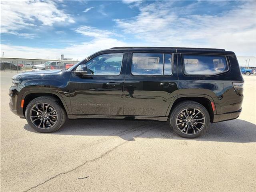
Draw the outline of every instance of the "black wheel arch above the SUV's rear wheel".
<instances>
[{"instance_id":1,"label":"black wheel arch above the SUV's rear wheel","mask_svg":"<svg viewBox=\"0 0 256 192\"><path fill-rule=\"evenodd\" d=\"M182 101L188 101L188 100L195 101L195 102L202 104L206 108L206 110L208 111L208 113L210 115L210 122L211 123L213 122L214 114L216 114L216 107L215 107L213 99L208 95L196 95L196 94L179 95L174 100L172 100L172 102L166 112L166 116L170 115L170 113L172 112L172 110L174 109L174 107L177 104L179 104ZM214 105L214 110L212 108L212 104Z\"/></svg>"}]
</instances>

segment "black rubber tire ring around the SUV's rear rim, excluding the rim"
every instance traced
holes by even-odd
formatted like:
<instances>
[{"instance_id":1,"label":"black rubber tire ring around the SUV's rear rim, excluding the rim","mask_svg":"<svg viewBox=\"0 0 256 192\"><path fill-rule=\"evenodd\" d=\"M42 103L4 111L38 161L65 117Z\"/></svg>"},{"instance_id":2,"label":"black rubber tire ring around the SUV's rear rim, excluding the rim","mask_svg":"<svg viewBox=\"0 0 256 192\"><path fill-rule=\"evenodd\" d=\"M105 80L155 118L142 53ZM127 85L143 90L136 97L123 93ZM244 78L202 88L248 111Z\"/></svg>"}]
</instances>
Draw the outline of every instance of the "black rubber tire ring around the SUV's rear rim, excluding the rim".
<instances>
[{"instance_id":1,"label":"black rubber tire ring around the SUV's rear rim, excluding the rim","mask_svg":"<svg viewBox=\"0 0 256 192\"><path fill-rule=\"evenodd\" d=\"M205 117L204 127L202 128L202 130L200 130L196 134L192 134L192 135L184 134L179 130L179 128L176 125L176 118L177 118L178 114L180 114L180 112L186 108L197 108L204 114L204 117ZM196 137L199 137L202 134L204 134L210 128L210 125L209 125L210 124L210 115L209 115L207 109L204 106L202 106L201 104L196 103L196 102L184 102L184 103L176 106L176 108L174 108L173 114L170 116L170 124L172 124L172 128L173 128L174 132L176 134L178 134L179 136L181 136L183 138L196 138Z\"/></svg>"}]
</instances>

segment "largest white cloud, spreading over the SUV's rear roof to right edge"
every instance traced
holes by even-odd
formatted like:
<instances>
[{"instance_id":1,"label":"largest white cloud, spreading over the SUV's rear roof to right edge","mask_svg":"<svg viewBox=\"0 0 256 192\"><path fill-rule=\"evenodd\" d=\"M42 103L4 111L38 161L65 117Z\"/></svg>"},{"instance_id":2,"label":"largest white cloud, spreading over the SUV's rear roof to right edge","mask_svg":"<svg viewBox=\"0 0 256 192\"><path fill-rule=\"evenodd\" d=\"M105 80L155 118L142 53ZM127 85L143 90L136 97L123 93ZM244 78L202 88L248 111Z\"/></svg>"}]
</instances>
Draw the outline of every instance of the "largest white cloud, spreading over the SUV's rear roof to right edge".
<instances>
[{"instance_id":1,"label":"largest white cloud, spreading over the SUV's rear roof to right edge","mask_svg":"<svg viewBox=\"0 0 256 192\"><path fill-rule=\"evenodd\" d=\"M190 13L197 3L175 8L171 2L140 5L140 14L116 19L125 34L148 42L149 46L190 46L225 48L239 54L255 55L255 2L211 15ZM211 5L212 6L212 5Z\"/></svg>"}]
</instances>

